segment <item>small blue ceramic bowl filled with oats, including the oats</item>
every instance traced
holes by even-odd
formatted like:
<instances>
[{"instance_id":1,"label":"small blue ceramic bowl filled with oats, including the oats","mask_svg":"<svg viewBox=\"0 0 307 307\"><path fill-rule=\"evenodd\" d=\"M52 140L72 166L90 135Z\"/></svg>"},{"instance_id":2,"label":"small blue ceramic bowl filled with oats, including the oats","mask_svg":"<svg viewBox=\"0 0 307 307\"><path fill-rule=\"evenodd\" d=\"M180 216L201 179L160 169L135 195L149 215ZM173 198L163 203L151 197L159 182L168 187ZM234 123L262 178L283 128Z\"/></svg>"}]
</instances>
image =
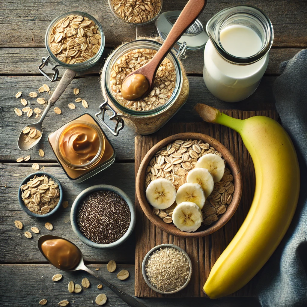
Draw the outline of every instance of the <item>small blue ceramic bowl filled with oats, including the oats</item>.
<instances>
[{"instance_id":1,"label":"small blue ceramic bowl filled with oats, including the oats","mask_svg":"<svg viewBox=\"0 0 307 307\"><path fill-rule=\"evenodd\" d=\"M37 172L27 176L20 184L18 200L30 216L45 218L54 214L63 200L60 181L51 174Z\"/></svg>"}]
</instances>

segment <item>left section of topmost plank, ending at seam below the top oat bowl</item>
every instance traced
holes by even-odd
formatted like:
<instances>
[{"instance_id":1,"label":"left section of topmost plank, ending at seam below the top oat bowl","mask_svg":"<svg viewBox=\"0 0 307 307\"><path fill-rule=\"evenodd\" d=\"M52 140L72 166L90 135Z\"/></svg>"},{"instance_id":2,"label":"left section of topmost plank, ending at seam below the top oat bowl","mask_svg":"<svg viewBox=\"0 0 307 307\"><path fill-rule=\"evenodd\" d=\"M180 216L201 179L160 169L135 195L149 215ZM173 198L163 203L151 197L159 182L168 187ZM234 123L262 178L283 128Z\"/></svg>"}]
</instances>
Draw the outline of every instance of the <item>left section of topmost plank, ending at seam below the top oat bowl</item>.
<instances>
[{"instance_id":1,"label":"left section of topmost plank, ending at seam below the top oat bowl","mask_svg":"<svg viewBox=\"0 0 307 307\"><path fill-rule=\"evenodd\" d=\"M114 47L123 41L135 39L135 26L119 22L111 13L107 0L67 0L65 2L43 0L2 2L0 28L2 47L44 47L45 33L57 16L78 10L94 16L102 25L106 46ZM116 29L116 30L115 30Z\"/></svg>"}]
</instances>

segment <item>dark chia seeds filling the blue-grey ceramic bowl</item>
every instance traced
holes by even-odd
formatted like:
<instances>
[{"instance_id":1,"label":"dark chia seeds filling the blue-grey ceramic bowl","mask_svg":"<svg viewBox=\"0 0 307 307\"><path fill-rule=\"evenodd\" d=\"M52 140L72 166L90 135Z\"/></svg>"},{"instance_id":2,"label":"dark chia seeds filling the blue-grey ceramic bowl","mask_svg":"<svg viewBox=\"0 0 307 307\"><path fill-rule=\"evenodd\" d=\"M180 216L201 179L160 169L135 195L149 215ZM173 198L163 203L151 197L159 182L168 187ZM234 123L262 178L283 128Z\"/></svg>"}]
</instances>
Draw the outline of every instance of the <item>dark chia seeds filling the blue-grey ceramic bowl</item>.
<instances>
[{"instance_id":1,"label":"dark chia seeds filling the blue-grey ceramic bowl","mask_svg":"<svg viewBox=\"0 0 307 307\"><path fill-rule=\"evenodd\" d=\"M126 201L112 191L97 191L80 204L77 224L82 234L95 243L108 244L121 238L130 225Z\"/></svg>"}]
</instances>

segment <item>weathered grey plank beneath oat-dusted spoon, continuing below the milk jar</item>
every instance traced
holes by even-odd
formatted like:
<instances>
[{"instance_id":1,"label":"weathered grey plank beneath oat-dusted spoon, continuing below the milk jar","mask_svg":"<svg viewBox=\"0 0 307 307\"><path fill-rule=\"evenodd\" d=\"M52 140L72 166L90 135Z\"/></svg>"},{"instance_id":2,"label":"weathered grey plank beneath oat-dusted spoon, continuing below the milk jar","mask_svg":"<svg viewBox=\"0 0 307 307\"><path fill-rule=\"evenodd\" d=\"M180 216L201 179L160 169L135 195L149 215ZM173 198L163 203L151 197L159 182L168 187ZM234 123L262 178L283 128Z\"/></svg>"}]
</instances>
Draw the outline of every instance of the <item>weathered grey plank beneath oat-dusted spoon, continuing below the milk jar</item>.
<instances>
[{"instance_id":1,"label":"weathered grey plank beneath oat-dusted spoon, continuing below the milk jar","mask_svg":"<svg viewBox=\"0 0 307 307\"><path fill-rule=\"evenodd\" d=\"M274 97L272 93L272 83L275 77L264 77L253 95L239 103L225 103L215 98L206 88L202 77L188 77L190 82L190 95L185 105L177 112L171 119L172 122L196 122L201 121L201 118L194 110L196 103L203 102L208 105L222 108L222 109L240 109L240 110L267 110L274 108ZM16 161L22 155L31 155L32 160L52 162L55 161L54 154L48 144L48 134L55 129L62 126L69 120L77 117L78 115L89 112L94 115L98 111L99 105L103 102L101 95L99 77L87 76L84 78L77 78L72 81L68 89L62 94L61 98L56 103L57 107L62 110L61 115L57 115L50 110L43 123L43 137L39 144L33 149L22 152L17 148L17 139L21 129L29 122L36 122L37 119L32 116L30 119L24 114L18 117L14 113L14 108L21 108L20 98L16 99L15 94L22 91L21 98L30 98L29 92L37 91L38 87L42 84L48 84L51 90L54 90L57 83L47 82L45 77L31 76L2 76L0 77L0 160L3 161ZM73 88L80 89L80 95L73 94ZM45 97L48 99L50 96L47 93L41 93L38 97ZM88 109L84 109L80 103L76 104L76 109L71 110L68 108L68 103L74 102L76 97L82 97L88 102ZM39 105L36 99L30 98L31 107L40 107L44 109L44 105ZM134 136L135 133L125 127L118 137L111 136L107 131L106 135L110 138L116 150L117 161L134 160ZM45 157L41 158L38 155L38 149L42 148L45 151Z\"/></svg>"}]
</instances>

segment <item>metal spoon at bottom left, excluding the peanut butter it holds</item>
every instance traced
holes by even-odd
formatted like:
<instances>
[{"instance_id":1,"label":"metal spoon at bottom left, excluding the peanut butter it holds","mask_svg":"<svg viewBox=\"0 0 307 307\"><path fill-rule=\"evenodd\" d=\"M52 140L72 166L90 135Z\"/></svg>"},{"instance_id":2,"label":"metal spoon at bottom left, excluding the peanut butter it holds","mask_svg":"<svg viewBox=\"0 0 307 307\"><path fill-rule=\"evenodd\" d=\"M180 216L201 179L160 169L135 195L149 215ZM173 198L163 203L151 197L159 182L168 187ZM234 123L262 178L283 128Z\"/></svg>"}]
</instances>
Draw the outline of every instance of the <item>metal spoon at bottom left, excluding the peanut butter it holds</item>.
<instances>
[{"instance_id":1,"label":"metal spoon at bottom left, excluding the peanut butter it holds","mask_svg":"<svg viewBox=\"0 0 307 307\"><path fill-rule=\"evenodd\" d=\"M38 245L38 249L41 251L41 253L43 254L43 256L46 258L46 256L44 255L42 249L41 249L41 245L46 241L46 240L50 240L50 239L63 239L66 240L70 243L72 243L71 241L56 236L56 235L42 235L41 237L38 238L37 241L37 245ZM74 244L74 243L72 243ZM76 244L74 244L76 246ZM77 247L77 246L76 246ZM77 247L77 249L80 251L79 247ZM120 290L119 288L113 286L111 284L111 282L108 282L106 279L104 279L102 276L98 275L95 271L90 270L85 264L84 264L84 260L83 260L83 255L82 252L80 251L80 262L79 264L72 270L67 270L67 272L72 272L72 271L77 271L77 270L84 270L87 273L93 275L95 278L99 279L105 286L107 286L108 288L110 288L115 294L118 295L119 298L121 298L124 302L126 302L129 306L131 307L146 307L146 305L144 305L143 303L137 301L134 297L130 296L129 294L125 293L124 291ZM47 259L47 258L46 258ZM49 260L47 259L47 261L49 262ZM50 263L52 264L52 263ZM52 264L53 265L53 264ZM60 269L61 268L57 268Z\"/></svg>"}]
</instances>

